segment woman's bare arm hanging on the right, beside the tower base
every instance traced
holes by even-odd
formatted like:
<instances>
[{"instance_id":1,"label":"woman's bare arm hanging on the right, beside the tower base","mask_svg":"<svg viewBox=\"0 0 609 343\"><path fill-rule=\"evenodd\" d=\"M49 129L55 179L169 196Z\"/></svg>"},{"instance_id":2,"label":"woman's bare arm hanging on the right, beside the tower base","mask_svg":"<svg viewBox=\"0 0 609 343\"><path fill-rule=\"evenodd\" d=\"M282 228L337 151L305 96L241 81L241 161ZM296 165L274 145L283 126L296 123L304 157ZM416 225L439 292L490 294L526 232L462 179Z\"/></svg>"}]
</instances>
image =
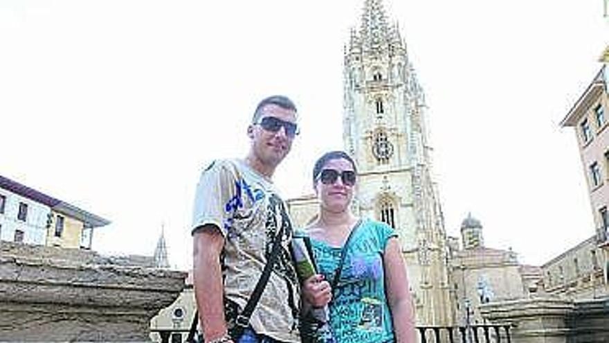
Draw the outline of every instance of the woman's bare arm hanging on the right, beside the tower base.
<instances>
[{"instance_id":1,"label":"woman's bare arm hanging on the right, beside the tower base","mask_svg":"<svg viewBox=\"0 0 609 343\"><path fill-rule=\"evenodd\" d=\"M383 256L387 301L397 343L415 343L415 313L410 296L406 265L397 238L390 238Z\"/></svg>"}]
</instances>

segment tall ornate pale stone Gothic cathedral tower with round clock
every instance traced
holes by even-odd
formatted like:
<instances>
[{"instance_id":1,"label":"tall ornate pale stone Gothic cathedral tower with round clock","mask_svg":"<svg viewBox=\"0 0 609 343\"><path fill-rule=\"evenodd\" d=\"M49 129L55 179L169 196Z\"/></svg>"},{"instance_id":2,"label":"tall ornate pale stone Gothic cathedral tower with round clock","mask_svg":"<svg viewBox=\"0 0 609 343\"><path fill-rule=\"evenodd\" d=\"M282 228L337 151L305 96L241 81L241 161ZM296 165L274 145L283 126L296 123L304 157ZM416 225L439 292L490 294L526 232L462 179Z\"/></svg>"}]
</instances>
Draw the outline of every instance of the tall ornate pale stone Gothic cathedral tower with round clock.
<instances>
[{"instance_id":1,"label":"tall ornate pale stone Gothic cathedral tower with round clock","mask_svg":"<svg viewBox=\"0 0 609 343\"><path fill-rule=\"evenodd\" d=\"M345 46L343 77L343 140L359 169L354 212L397 230L417 324L453 324L425 96L381 0L365 0L361 26Z\"/></svg>"}]
</instances>

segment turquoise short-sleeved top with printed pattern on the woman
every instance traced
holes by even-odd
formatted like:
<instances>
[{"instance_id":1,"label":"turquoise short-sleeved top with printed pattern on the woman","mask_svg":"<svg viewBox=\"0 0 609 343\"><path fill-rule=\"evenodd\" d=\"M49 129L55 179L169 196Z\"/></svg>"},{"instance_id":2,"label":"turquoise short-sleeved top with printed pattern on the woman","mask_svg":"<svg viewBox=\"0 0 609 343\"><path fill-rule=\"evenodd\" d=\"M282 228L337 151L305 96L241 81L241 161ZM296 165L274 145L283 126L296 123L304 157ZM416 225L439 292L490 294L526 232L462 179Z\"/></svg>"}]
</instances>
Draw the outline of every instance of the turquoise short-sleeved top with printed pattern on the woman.
<instances>
[{"instance_id":1,"label":"turquoise short-sleeved top with printed pattern on the woman","mask_svg":"<svg viewBox=\"0 0 609 343\"><path fill-rule=\"evenodd\" d=\"M362 220L355 230L329 304L334 342L393 342L393 324L385 294L383 253L389 238L397 237L397 234L385 223L367 219ZM342 247L333 247L313 238L311 246L318 272L331 283Z\"/></svg>"}]
</instances>

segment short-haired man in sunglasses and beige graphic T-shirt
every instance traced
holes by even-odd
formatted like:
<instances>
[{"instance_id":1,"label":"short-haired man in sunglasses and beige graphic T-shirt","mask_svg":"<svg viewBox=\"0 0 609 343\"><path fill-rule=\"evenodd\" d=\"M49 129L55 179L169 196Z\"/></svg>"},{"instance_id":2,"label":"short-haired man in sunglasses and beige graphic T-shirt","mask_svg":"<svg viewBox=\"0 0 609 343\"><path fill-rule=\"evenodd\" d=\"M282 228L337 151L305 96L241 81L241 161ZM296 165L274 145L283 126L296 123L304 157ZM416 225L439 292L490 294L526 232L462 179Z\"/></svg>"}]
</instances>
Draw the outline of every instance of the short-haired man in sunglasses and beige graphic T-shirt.
<instances>
[{"instance_id":1,"label":"short-haired man in sunglasses and beige graphic T-shirt","mask_svg":"<svg viewBox=\"0 0 609 343\"><path fill-rule=\"evenodd\" d=\"M265 98L247 129L247 157L215 161L201 174L192 235L194 293L206 342L233 342L228 329L250 299L275 239L281 239L277 261L240 341L300 342L300 285L289 253L293 230L271 182L296 134L293 102ZM315 291L314 303L329 301L327 281L306 288Z\"/></svg>"}]
</instances>

